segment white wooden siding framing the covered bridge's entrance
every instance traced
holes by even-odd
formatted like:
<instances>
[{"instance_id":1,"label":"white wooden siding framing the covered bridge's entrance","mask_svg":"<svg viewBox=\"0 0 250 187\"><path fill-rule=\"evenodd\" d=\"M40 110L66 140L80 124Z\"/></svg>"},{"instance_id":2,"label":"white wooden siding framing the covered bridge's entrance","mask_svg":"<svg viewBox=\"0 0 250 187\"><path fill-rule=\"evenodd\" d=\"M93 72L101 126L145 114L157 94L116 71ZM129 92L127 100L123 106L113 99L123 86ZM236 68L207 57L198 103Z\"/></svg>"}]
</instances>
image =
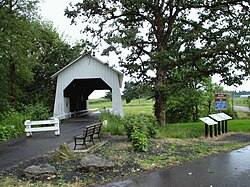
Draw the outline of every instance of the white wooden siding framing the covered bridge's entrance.
<instances>
[{"instance_id":1,"label":"white wooden siding framing the covered bridge's entrance","mask_svg":"<svg viewBox=\"0 0 250 187\"><path fill-rule=\"evenodd\" d=\"M101 78L112 88L112 107L115 114L123 116L120 87L122 75L108 65L91 56L78 58L74 63L66 66L52 77L57 76L57 87L54 105L54 116L63 116L69 109L65 108L67 98L64 98L64 89L74 79Z\"/></svg>"}]
</instances>

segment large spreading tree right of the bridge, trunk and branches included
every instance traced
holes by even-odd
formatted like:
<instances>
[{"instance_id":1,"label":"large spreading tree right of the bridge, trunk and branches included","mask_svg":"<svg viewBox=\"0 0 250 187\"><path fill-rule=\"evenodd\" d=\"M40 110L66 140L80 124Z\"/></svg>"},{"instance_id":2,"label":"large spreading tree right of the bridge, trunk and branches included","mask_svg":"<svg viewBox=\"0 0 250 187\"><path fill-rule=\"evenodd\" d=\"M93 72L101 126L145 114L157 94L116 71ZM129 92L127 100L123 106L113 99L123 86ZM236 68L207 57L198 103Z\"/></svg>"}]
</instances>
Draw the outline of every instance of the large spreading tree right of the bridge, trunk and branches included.
<instances>
[{"instance_id":1,"label":"large spreading tree right of the bridge, trunk and branches included","mask_svg":"<svg viewBox=\"0 0 250 187\"><path fill-rule=\"evenodd\" d=\"M88 0L65 14L86 23L83 33L95 38L88 41L93 47L106 41L105 54L115 51L129 75L151 82L155 116L164 124L171 69L219 73L229 85L249 76L249 8L248 0Z\"/></svg>"}]
</instances>

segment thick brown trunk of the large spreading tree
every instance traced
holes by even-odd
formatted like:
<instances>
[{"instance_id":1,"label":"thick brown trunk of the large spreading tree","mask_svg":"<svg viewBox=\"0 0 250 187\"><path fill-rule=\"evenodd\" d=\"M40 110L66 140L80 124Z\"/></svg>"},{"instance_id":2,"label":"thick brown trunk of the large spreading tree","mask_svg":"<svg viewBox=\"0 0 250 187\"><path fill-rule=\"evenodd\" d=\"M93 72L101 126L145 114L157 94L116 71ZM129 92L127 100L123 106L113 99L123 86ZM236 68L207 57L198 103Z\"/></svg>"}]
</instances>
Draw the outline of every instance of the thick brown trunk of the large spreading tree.
<instances>
[{"instance_id":1,"label":"thick brown trunk of the large spreading tree","mask_svg":"<svg viewBox=\"0 0 250 187\"><path fill-rule=\"evenodd\" d=\"M162 68L157 69L155 88L155 117L159 125L166 122L166 94L165 94L165 72Z\"/></svg>"}]
</instances>

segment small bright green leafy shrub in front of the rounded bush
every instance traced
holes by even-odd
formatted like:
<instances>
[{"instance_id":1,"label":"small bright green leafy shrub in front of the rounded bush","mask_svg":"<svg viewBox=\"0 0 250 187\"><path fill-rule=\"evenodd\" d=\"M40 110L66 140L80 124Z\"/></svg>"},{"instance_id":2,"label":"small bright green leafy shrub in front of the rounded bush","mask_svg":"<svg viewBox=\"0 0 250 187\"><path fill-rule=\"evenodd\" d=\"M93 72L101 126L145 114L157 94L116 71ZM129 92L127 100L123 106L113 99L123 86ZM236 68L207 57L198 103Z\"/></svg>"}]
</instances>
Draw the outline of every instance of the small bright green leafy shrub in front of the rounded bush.
<instances>
[{"instance_id":1,"label":"small bright green leafy shrub in front of the rounded bush","mask_svg":"<svg viewBox=\"0 0 250 187\"><path fill-rule=\"evenodd\" d=\"M131 143L134 151L148 151L148 138L145 132L140 132L135 126L131 134Z\"/></svg>"}]
</instances>

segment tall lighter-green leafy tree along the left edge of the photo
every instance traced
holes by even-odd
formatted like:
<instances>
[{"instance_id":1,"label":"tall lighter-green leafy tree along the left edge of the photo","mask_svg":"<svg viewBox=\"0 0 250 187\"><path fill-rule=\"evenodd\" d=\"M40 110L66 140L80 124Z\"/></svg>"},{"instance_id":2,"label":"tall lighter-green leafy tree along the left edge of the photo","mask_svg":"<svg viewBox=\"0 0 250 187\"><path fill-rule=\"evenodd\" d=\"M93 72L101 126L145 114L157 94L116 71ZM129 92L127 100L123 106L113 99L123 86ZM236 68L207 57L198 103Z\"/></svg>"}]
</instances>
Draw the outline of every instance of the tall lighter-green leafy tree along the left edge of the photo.
<instances>
[{"instance_id":1,"label":"tall lighter-green leafy tree along the left edge of the photo","mask_svg":"<svg viewBox=\"0 0 250 187\"><path fill-rule=\"evenodd\" d=\"M2 0L0 2L0 96L15 106L24 82L32 80L31 69L36 62L34 54L34 24L38 1ZM19 98L21 100L21 98ZM9 102L11 101L11 102Z\"/></svg>"}]
</instances>

